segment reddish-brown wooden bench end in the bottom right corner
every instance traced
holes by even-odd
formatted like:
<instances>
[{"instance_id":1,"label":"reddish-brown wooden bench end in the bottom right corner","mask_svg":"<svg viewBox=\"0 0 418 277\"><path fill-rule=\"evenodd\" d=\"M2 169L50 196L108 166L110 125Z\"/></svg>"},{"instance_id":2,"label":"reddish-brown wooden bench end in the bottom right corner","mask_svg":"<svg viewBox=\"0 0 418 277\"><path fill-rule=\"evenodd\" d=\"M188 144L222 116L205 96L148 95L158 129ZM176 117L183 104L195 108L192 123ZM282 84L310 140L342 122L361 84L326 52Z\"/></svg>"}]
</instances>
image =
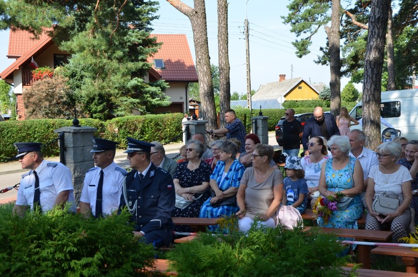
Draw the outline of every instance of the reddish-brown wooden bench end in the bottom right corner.
<instances>
[{"instance_id":1,"label":"reddish-brown wooden bench end in the bottom right corner","mask_svg":"<svg viewBox=\"0 0 418 277\"><path fill-rule=\"evenodd\" d=\"M407 273L417 273L417 261L418 251L414 251L411 248L400 246L378 246L371 250L373 254L390 255L390 256L402 256L402 262L406 266Z\"/></svg>"}]
</instances>

